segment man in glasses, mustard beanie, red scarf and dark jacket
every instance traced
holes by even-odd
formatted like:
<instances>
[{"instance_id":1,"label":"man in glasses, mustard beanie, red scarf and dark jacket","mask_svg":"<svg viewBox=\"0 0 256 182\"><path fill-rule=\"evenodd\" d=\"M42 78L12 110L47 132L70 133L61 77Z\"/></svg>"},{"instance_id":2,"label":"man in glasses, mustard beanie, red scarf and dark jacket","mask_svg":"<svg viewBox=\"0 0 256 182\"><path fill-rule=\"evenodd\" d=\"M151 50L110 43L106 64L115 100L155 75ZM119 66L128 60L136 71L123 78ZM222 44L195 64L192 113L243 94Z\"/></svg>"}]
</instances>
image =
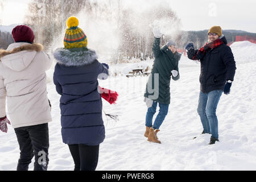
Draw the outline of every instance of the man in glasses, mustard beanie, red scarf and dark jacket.
<instances>
[{"instance_id":1,"label":"man in glasses, mustard beanie, red scarf and dark jacket","mask_svg":"<svg viewBox=\"0 0 256 182\"><path fill-rule=\"evenodd\" d=\"M236 73L236 62L227 40L222 35L220 26L213 26L208 32L208 42L204 47L195 50L193 43L187 49L188 58L201 63L200 96L197 112L203 124L203 133L212 134L209 144L218 140L218 119L216 109L218 101L224 94L230 93L230 87Z\"/></svg>"}]
</instances>

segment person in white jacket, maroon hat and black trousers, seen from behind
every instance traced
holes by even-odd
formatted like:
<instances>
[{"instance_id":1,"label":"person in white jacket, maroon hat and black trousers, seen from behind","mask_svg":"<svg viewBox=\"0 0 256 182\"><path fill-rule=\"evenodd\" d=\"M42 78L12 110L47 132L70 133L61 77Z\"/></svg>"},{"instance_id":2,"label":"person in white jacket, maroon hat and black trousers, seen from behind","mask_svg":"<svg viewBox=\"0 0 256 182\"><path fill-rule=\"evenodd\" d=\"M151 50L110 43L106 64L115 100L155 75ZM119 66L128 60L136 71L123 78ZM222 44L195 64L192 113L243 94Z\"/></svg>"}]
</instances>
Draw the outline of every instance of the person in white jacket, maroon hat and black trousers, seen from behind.
<instances>
[{"instance_id":1,"label":"person in white jacket, maroon hat and black trousers, seen from behind","mask_svg":"<svg viewBox=\"0 0 256 182\"><path fill-rule=\"evenodd\" d=\"M17 170L28 170L35 156L34 170L47 170L51 107L47 97L46 71L52 61L41 44L34 44L30 27L14 28L15 43L0 50L0 125L6 128L6 98L20 159ZM2 122L2 123L1 123ZM39 157L43 157L38 160Z\"/></svg>"}]
</instances>

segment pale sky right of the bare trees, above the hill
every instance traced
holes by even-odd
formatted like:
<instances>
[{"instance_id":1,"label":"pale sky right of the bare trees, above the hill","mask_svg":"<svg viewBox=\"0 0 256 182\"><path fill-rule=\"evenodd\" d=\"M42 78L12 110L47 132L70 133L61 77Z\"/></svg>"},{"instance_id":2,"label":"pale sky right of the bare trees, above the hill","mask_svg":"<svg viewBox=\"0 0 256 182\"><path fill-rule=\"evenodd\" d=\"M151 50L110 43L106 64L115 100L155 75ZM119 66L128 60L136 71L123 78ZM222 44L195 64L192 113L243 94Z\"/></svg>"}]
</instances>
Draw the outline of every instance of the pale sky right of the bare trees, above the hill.
<instances>
[{"instance_id":1,"label":"pale sky right of the bare trees, above the hill","mask_svg":"<svg viewBox=\"0 0 256 182\"><path fill-rule=\"evenodd\" d=\"M255 0L170 1L181 19L183 30L205 30L213 25L223 29L256 33Z\"/></svg>"}]
</instances>

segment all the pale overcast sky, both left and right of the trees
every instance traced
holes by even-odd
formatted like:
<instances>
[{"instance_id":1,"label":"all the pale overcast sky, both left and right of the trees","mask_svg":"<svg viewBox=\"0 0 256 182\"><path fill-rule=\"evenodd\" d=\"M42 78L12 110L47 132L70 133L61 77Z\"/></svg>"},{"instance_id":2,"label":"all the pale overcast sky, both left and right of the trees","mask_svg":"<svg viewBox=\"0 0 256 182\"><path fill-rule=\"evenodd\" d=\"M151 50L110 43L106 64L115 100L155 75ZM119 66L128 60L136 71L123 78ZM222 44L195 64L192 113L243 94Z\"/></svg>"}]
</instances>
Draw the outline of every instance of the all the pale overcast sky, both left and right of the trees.
<instances>
[{"instance_id":1,"label":"all the pale overcast sky, both left and right of the trees","mask_svg":"<svg viewBox=\"0 0 256 182\"><path fill-rule=\"evenodd\" d=\"M6 0L4 9L0 7L2 24L23 23L29 1L31 0ZM181 19L182 30L205 30L219 25L224 30L235 29L256 33L255 0L169 0L168 2Z\"/></svg>"}]
</instances>

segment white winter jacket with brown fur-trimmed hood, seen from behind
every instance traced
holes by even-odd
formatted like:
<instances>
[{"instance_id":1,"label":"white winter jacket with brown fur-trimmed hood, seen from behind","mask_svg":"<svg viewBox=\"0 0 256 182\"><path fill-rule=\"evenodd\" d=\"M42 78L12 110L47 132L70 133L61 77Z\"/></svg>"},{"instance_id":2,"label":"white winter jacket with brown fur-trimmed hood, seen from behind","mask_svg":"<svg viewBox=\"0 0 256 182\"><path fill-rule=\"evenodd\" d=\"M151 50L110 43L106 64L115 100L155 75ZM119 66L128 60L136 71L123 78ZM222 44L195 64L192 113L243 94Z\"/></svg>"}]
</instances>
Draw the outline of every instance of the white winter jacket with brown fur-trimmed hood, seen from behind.
<instances>
[{"instance_id":1,"label":"white winter jacket with brown fur-trimmed hood, seen from behind","mask_svg":"<svg viewBox=\"0 0 256 182\"><path fill-rule=\"evenodd\" d=\"M7 109L14 128L50 122L46 71L52 61L41 44L13 43L0 50L0 118Z\"/></svg>"}]
</instances>

